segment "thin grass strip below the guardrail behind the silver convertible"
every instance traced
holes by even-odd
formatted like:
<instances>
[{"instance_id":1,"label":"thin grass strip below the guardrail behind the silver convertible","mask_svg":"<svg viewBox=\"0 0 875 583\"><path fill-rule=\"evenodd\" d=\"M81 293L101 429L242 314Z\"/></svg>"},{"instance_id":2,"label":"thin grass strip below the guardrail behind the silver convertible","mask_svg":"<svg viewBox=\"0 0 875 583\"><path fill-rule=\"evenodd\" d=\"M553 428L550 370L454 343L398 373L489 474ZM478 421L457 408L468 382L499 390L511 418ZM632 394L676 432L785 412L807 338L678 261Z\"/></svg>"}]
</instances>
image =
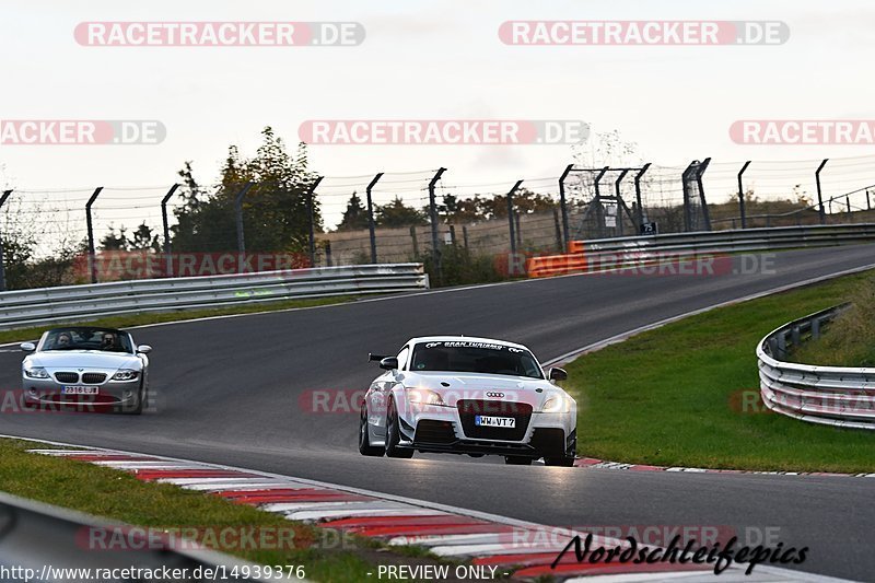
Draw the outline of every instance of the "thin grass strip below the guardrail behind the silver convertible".
<instances>
[{"instance_id":1,"label":"thin grass strip below the guardrail behind the silver convertible","mask_svg":"<svg viewBox=\"0 0 875 583\"><path fill-rule=\"evenodd\" d=\"M264 304L246 304L230 307L211 307L205 310L184 310L177 312L160 312L143 314L126 314L119 316L107 316L105 318L90 319L78 323L65 324L66 326L106 326L108 328L129 328L131 326L143 326L147 324L161 324L163 322L182 322L186 319L208 318L212 316L228 316L235 314L256 314L261 312L278 312L280 310L292 310L295 307L315 307L320 305L342 304L357 300L353 295L338 295L335 298L313 298L310 300L284 300L280 302L269 302ZM39 336L58 326L47 324L33 328L19 328L15 330L0 331L0 343L35 340Z\"/></svg>"}]
</instances>

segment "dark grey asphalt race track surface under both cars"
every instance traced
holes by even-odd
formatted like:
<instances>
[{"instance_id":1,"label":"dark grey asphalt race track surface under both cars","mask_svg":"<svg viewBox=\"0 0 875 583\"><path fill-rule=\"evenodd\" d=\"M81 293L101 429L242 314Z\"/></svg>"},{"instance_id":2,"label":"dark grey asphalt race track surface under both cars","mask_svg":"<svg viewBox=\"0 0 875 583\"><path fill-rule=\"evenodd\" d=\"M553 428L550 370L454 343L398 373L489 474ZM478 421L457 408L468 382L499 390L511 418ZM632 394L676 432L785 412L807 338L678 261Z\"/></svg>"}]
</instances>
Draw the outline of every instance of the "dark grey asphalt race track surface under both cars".
<instances>
[{"instance_id":1,"label":"dark grey asphalt race track surface under both cars","mask_svg":"<svg viewBox=\"0 0 875 583\"><path fill-rule=\"evenodd\" d=\"M5 413L0 433L224 463L550 525L771 528L785 547L810 548L804 570L872 580L873 478L365 458L354 410L310 410L310 390L365 388L378 373L366 353L393 352L412 336L512 339L549 360L691 310L875 264L875 245L765 257L766 269L749 275L737 271L755 261L735 257L730 272L710 277L578 276L147 327L133 333L154 347L155 411ZM21 358L0 353L0 387L20 388Z\"/></svg>"}]
</instances>

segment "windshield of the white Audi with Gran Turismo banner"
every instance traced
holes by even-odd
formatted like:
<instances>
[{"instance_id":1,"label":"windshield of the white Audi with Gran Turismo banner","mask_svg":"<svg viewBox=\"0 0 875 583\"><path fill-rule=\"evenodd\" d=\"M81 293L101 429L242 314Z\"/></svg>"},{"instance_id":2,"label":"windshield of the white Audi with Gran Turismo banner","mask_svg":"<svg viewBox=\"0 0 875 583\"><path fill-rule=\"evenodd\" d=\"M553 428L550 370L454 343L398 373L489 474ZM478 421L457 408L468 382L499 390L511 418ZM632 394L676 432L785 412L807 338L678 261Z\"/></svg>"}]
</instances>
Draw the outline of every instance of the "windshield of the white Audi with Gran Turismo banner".
<instances>
[{"instance_id":1,"label":"windshield of the white Audi with Gran Turismo banner","mask_svg":"<svg viewBox=\"0 0 875 583\"><path fill-rule=\"evenodd\" d=\"M420 342L413 348L411 371L444 371L544 378L528 350L475 341Z\"/></svg>"}]
</instances>

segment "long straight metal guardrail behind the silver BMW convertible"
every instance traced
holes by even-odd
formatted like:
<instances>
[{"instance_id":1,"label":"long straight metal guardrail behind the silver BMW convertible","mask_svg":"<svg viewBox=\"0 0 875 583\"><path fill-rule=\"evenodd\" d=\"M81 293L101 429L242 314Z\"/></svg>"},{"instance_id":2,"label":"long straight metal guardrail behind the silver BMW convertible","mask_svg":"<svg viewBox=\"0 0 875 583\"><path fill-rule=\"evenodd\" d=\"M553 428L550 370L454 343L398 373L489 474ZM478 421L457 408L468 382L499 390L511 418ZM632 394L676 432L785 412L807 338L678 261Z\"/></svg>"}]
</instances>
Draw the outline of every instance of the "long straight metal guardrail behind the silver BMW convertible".
<instances>
[{"instance_id":1,"label":"long straight metal guardrail behind the silver BMW convertible","mask_svg":"<svg viewBox=\"0 0 875 583\"><path fill-rule=\"evenodd\" d=\"M422 264L145 279L0 293L0 329L141 312L428 289Z\"/></svg>"}]
</instances>

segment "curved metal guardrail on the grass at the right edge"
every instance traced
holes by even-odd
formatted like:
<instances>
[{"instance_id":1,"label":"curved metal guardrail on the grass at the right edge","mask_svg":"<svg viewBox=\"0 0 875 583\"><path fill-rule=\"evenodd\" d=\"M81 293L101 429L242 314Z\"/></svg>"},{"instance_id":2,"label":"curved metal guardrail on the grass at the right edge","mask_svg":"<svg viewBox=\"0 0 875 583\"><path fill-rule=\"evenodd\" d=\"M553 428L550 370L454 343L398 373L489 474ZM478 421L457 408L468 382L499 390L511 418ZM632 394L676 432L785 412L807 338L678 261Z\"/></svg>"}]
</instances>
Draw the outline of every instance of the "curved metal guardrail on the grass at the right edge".
<instances>
[{"instance_id":1,"label":"curved metal guardrail on the grass at the right edge","mask_svg":"<svg viewBox=\"0 0 875 583\"><path fill-rule=\"evenodd\" d=\"M760 395L771 410L813 423L875 430L875 369L783 362L848 304L784 324L757 346Z\"/></svg>"}]
</instances>

